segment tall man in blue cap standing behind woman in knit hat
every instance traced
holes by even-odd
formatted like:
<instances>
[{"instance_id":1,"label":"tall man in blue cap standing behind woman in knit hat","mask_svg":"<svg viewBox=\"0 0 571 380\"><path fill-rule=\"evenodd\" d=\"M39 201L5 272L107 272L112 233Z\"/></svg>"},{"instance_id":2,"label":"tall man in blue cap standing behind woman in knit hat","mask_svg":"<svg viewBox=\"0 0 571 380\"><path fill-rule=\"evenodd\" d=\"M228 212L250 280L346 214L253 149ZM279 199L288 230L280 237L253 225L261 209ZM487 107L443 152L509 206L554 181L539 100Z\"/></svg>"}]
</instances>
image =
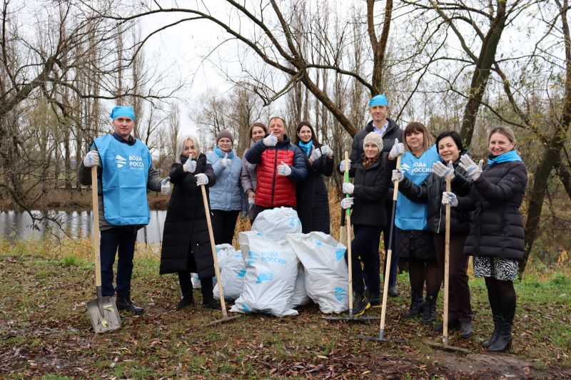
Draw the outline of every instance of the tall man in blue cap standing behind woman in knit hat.
<instances>
[{"instance_id":1,"label":"tall man in blue cap standing behind woman in knit hat","mask_svg":"<svg viewBox=\"0 0 571 380\"><path fill-rule=\"evenodd\" d=\"M349 161L351 163L360 163L363 161L363 140L365 140L365 136L368 135L370 132L376 132L381 135L383 138L383 154L388 155L390 150L393 148L395 144L395 138L398 138L399 141L403 141L403 130L395 123L394 120L387 118L387 115L390 111L388 106L388 101L385 94L380 94L377 96L373 96L373 98L369 101L369 113L373 120L365 126L365 129L360 130L354 137L353 137L353 144L351 145L351 153L349 155ZM391 158L389 158L391 160ZM345 163L341 161L339 168L340 173L345 171ZM391 184L392 185L392 184ZM391 215L391 207L393 207L392 202L392 187L388 191L388 194L391 195L390 199L386 200L385 207L387 207L387 215ZM396 229L395 229L396 230ZM383 242L385 243L385 250L389 245L389 234L390 234L390 221L388 224L383 227ZM397 285L397 266L398 266L398 252L396 247L396 239L395 234L393 233L393 255L391 257L391 265L390 265L390 276L389 276L389 288L388 294L392 297L398 296L398 290L396 289ZM386 261L385 261L386 262ZM380 299L372 299L370 300L371 306L379 306Z\"/></svg>"}]
</instances>

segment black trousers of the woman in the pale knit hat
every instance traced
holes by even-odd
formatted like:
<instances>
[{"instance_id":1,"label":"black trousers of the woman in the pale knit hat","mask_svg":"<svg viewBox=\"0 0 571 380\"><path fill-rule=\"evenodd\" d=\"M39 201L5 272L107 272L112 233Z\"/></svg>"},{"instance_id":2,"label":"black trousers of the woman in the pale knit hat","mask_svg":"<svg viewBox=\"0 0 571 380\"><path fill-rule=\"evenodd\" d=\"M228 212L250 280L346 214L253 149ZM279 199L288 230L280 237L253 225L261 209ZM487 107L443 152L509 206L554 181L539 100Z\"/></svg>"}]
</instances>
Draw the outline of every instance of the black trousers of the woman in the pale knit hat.
<instances>
[{"instance_id":1,"label":"black trousers of the woman in the pale knit hat","mask_svg":"<svg viewBox=\"0 0 571 380\"><path fill-rule=\"evenodd\" d=\"M353 225L355 238L351 242L353 292L365 293L365 276L370 294L380 294L380 230L383 227ZM363 269L361 269L363 263ZM364 273L363 273L364 272Z\"/></svg>"}]
</instances>

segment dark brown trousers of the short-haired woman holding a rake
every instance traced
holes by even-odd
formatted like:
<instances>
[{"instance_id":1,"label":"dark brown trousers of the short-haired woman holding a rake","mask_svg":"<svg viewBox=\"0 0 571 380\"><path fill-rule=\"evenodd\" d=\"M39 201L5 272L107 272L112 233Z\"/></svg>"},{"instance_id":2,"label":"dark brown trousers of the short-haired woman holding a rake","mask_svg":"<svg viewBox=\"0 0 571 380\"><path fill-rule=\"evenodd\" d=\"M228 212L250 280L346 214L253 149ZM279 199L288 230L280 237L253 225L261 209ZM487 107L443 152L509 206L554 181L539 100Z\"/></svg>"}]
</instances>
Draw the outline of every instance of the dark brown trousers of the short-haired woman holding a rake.
<instances>
[{"instance_id":1,"label":"dark brown trousers of the short-haired woman holding a rake","mask_svg":"<svg viewBox=\"0 0 571 380\"><path fill-rule=\"evenodd\" d=\"M460 322L472 320L470 306L470 287L468 286L468 256L464 255L464 242L467 234L450 235L450 264L448 287L448 319L458 319ZM444 278L444 234L434 234L436 260L440 273Z\"/></svg>"}]
</instances>

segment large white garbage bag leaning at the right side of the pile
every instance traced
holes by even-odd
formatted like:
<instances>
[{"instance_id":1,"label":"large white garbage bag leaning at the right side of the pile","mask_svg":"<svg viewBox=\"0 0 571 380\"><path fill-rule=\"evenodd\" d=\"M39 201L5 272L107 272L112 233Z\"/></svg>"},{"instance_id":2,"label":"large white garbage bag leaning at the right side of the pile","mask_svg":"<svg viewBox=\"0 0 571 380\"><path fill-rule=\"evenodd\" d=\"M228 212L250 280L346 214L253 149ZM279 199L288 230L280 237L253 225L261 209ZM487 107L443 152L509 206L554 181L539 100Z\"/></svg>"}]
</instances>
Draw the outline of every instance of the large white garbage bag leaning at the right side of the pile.
<instances>
[{"instance_id":1,"label":"large white garbage bag leaning at the right side of the pile","mask_svg":"<svg viewBox=\"0 0 571 380\"><path fill-rule=\"evenodd\" d=\"M321 312L349 309L346 247L323 232L290 234L287 237L305 268L305 291Z\"/></svg>"}]
</instances>

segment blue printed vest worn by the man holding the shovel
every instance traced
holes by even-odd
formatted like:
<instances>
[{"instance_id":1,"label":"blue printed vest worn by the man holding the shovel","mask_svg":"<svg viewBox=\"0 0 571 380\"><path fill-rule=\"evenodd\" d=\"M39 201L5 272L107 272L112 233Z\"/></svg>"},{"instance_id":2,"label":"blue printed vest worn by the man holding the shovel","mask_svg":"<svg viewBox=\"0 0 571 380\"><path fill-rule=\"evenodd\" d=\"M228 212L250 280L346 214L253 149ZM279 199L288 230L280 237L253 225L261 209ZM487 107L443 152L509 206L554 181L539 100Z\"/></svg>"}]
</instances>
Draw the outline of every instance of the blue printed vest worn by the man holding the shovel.
<instances>
[{"instance_id":1,"label":"blue printed vest worn by the man holding the shovel","mask_svg":"<svg viewBox=\"0 0 571 380\"><path fill-rule=\"evenodd\" d=\"M148 147L121 143L113 135L94 140L101 158L103 212L110 225L146 225L148 211L147 180L151 168Z\"/></svg>"}]
</instances>

